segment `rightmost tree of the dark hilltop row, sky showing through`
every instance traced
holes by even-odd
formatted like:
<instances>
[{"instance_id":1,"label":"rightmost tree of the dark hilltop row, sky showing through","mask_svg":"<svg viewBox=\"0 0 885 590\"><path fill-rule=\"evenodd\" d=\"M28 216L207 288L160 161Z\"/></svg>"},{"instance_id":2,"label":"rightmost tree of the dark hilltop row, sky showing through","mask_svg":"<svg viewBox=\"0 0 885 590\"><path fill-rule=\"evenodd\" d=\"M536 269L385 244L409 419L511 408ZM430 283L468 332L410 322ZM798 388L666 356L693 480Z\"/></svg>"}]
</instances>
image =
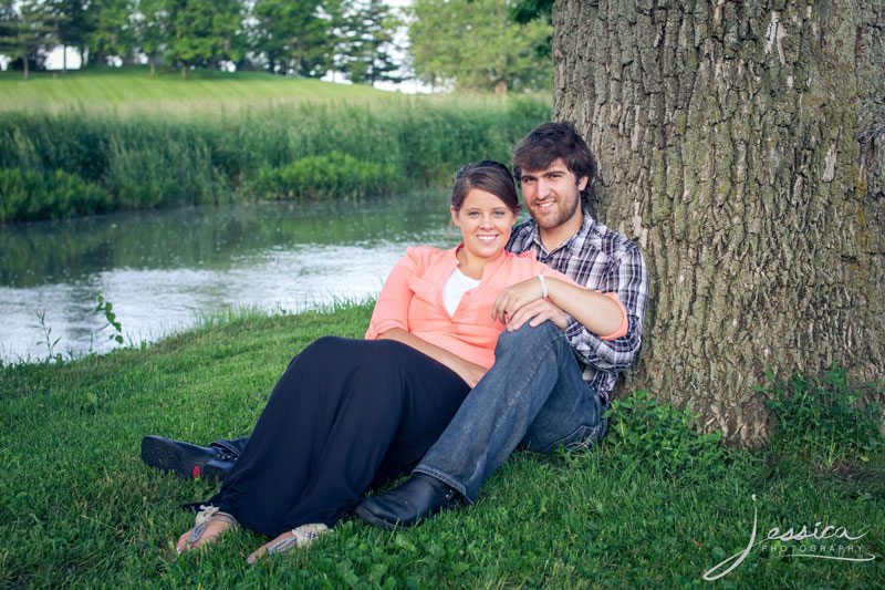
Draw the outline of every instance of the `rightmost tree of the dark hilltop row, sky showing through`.
<instances>
[{"instance_id":1,"label":"rightmost tree of the dark hilltop row, sky showing through","mask_svg":"<svg viewBox=\"0 0 885 590\"><path fill-rule=\"evenodd\" d=\"M397 49L394 33L400 24L382 0L353 2L351 13L345 17L337 68L356 83L402 82L403 77L393 73L399 64L391 54Z\"/></svg>"}]
</instances>

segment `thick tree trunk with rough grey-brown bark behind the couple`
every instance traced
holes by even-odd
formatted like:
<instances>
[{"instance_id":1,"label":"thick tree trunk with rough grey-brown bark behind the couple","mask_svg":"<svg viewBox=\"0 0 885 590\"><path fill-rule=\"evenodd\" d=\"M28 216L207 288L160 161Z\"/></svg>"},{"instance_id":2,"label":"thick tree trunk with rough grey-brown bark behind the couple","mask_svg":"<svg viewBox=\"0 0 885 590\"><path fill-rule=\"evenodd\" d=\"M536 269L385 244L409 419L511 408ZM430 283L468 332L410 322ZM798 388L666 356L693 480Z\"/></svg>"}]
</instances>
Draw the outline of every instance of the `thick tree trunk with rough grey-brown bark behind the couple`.
<instances>
[{"instance_id":1,"label":"thick tree trunk with rough grey-brown bark behind the couple","mask_svg":"<svg viewBox=\"0 0 885 590\"><path fill-rule=\"evenodd\" d=\"M885 374L879 0L556 0L554 117L652 275L645 387L756 445L754 385Z\"/></svg>"}]
</instances>

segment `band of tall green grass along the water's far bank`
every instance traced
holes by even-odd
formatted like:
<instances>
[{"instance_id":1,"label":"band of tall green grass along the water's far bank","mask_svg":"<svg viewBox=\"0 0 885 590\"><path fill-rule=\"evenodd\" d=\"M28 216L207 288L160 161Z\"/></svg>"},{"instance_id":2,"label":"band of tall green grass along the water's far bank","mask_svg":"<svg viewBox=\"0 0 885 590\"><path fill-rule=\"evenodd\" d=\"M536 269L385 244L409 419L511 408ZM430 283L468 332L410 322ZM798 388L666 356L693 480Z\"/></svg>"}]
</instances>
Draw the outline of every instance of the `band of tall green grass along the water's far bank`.
<instances>
[{"instance_id":1,"label":"band of tall green grass along the water's far bank","mask_svg":"<svg viewBox=\"0 0 885 590\"><path fill-rule=\"evenodd\" d=\"M0 113L0 222L254 199L353 198L509 162L541 97L305 103L219 116Z\"/></svg>"}]
</instances>

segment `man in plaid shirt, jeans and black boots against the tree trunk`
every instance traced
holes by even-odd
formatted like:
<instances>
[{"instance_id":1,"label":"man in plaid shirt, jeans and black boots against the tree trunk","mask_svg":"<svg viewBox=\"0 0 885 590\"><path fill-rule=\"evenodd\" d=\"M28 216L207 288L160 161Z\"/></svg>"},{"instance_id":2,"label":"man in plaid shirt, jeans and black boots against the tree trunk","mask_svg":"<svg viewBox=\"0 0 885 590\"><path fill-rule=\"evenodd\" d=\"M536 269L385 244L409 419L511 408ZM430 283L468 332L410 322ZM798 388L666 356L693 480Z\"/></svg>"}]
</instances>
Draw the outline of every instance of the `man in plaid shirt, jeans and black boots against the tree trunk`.
<instances>
[{"instance_id":1,"label":"man in plaid shirt, jeans and black boots against the tree trunk","mask_svg":"<svg viewBox=\"0 0 885 590\"><path fill-rule=\"evenodd\" d=\"M412 477L356 507L375 526L410 526L472 503L518 446L548 453L601 441L617 373L638 352L648 294L645 261L636 245L586 211L596 163L583 138L571 123L539 125L517 146L513 170L532 219L513 228L507 248L535 252L598 297L575 309L565 283L540 278L501 293L493 312L507 330L494 365ZM223 475L246 441L219 441L206 449L145 437L142 457L185 477Z\"/></svg>"}]
</instances>

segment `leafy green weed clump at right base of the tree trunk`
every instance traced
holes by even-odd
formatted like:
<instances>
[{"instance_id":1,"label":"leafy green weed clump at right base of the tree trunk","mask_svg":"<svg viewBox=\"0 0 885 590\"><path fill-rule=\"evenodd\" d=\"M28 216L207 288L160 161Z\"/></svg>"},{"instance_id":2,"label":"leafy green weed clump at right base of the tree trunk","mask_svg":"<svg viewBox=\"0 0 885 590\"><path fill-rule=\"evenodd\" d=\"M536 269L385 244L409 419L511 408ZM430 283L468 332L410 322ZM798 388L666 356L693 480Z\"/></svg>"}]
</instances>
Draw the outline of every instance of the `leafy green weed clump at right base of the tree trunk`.
<instances>
[{"instance_id":1,"label":"leafy green weed clump at right base of the tree trunk","mask_svg":"<svg viewBox=\"0 0 885 590\"><path fill-rule=\"evenodd\" d=\"M756 390L767 397L777 424L770 446L778 452L811 459L825 469L868 462L883 446L882 411L873 400L882 396L882 385L855 389L847 372L833 366L823 379L793 375L778 382L769 371L770 384Z\"/></svg>"}]
</instances>

